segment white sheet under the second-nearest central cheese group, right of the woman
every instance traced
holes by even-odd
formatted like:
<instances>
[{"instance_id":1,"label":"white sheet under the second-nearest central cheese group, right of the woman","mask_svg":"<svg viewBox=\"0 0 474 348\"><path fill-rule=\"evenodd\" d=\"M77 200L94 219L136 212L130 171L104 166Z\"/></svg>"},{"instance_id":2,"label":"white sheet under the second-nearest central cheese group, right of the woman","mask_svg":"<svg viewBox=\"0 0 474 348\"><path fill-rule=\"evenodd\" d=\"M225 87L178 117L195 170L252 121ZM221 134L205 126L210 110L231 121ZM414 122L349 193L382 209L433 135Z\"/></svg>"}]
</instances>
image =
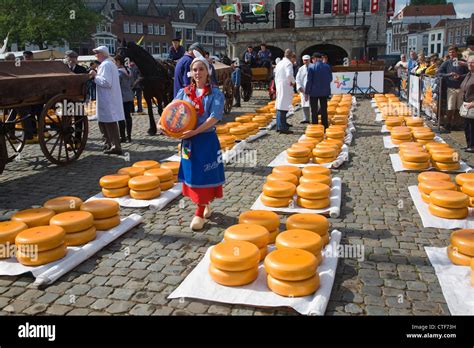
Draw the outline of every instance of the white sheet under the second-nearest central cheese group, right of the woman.
<instances>
[{"instance_id":1,"label":"white sheet under the second-nearest central cheese group, right of the woman","mask_svg":"<svg viewBox=\"0 0 474 348\"><path fill-rule=\"evenodd\" d=\"M307 208L300 207L296 203L296 198L297 198L296 194L293 197L292 203L290 203L288 207L284 207L284 208L267 207L260 200L261 196L262 195L258 196L257 200L250 208L251 210L270 210L270 211L285 212L285 213L292 213L292 214L296 214L296 213L323 214L323 215L329 215L332 218L337 218L339 217L339 214L341 213L342 180L339 177L335 177L332 179L331 192L329 196L330 205L329 207L324 208L324 209L307 209Z\"/></svg>"}]
</instances>

